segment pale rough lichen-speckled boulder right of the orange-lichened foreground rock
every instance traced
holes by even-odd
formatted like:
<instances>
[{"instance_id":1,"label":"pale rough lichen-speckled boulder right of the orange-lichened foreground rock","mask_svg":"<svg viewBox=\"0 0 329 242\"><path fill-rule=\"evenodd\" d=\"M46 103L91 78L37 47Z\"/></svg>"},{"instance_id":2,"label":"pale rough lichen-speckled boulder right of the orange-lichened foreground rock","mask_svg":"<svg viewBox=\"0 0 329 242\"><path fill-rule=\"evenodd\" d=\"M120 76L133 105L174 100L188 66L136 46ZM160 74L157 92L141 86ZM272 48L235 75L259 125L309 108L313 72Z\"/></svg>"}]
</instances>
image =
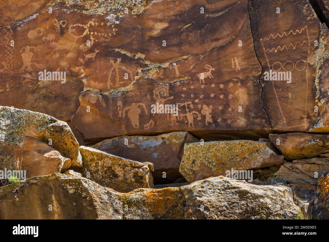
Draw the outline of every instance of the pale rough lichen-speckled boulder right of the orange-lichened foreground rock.
<instances>
[{"instance_id":1,"label":"pale rough lichen-speckled boulder right of the orange-lichened foreground rock","mask_svg":"<svg viewBox=\"0 0 329 242\"><path fill-rule=\"evenodd\" d=\"M299 207L291 188L259 186L223 176L180 187L186 219L293 219Z\"/></svg>"}]
</instances>

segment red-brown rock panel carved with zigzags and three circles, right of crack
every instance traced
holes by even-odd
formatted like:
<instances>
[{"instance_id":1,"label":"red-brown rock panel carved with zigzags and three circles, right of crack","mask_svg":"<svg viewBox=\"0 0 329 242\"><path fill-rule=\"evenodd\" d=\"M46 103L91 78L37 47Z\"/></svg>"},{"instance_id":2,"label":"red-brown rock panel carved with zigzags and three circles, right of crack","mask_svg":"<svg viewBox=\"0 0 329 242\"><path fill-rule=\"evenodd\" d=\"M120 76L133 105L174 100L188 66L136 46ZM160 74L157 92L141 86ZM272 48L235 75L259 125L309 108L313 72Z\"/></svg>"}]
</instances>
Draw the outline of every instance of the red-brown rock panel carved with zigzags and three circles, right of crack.
<instances>
[{"instance_id":1,"label":"red-brown rock panel carved with zigzags and three circles, right of crack","mask_svg":"<svg viewBox=\"0 0 329 242\"><path fill-rule=\"evenodd\" d=\"M313 92L318 67L315 41L320 36L316 13L308 0L249 0L248 9L255 50L263 69L263 105L273 130L313 131L321 118L315 111L318 99ZM327 59L325 55L321 58ZM270 70L291 71L291 80L266 81L265 72ZM322 128L328 131L327 124Z\"/></svg>"}]
</instances>

